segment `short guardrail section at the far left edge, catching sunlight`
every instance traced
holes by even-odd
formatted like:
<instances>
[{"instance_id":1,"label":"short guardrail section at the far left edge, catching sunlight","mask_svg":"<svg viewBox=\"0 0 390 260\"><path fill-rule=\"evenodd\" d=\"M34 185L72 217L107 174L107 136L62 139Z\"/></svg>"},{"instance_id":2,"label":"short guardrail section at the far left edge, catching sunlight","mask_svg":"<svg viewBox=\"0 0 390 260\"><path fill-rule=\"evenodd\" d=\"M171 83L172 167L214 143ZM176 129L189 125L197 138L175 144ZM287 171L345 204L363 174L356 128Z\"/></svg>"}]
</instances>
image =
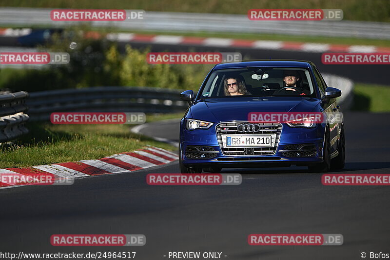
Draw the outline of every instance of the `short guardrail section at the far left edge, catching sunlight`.
<instances>
[{"instance_id":1,"label":"short guardrail section at the far left edge, catching sunlight","mask_svg":"<svg viewBox=\"0 0 390 260\"><path fill-rule=\"evenodd\" d=\"M25 100L28 93L19 91L0 95L0 142L13 140L28 133Z\"/></svg>"}]
</instances>

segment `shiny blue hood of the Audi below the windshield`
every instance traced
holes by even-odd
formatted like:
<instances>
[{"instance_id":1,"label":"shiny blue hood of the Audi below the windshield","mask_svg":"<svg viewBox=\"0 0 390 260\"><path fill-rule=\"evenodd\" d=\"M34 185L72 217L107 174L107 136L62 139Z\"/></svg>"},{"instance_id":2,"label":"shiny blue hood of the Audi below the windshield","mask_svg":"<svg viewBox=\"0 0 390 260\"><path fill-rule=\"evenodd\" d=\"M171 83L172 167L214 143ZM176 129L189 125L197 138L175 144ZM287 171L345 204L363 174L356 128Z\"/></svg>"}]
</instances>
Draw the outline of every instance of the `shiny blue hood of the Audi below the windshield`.
<instances>
[{"instance_id":1,"label":"shiny blue hood of the Audi below the windshield","mask_svg":"<svg viewBox=\"0 0 390 260\"><path fill-rule=\"evenodd\" d=\"M190 112L193 119L211 122L248 120L251 112L312 112L319 102L302 97L205 99L194 104Z\"/></svg>"}]
</instances>

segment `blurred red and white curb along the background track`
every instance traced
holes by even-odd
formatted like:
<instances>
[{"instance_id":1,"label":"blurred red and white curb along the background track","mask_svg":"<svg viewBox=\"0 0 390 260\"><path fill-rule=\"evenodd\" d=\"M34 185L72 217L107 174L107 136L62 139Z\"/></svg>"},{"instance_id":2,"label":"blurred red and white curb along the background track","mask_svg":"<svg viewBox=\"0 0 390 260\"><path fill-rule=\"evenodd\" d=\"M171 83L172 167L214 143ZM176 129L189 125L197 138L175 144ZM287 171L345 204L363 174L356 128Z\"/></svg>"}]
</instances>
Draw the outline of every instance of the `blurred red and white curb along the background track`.
<instances>
[{"instance_id":1,"label":"blurred red and white curb along the background track","mask_svg":"<svg viewBox=\"0 0 390 260\"><path fill-rule=\"evenodd\" d=\"M12 29L0 28L0 36L19 37L30 34L32 29ZM102 34L98 32L87 32L88 38L99 39ZM225 38L204 38L173 35L145 35L134 33L110 33L106 35L107 40L119 42L143 42L154 44L173 44L173 45L191 45L191 46L211 46L211 47L241 47L251 49L266 50L288 50L302 52L351 52L351 53L374 53L390 52L390 48L377 47L373 45L345 45L328 43L295 42L280 40L239 40Z\"/></svg>"}]
</instances>

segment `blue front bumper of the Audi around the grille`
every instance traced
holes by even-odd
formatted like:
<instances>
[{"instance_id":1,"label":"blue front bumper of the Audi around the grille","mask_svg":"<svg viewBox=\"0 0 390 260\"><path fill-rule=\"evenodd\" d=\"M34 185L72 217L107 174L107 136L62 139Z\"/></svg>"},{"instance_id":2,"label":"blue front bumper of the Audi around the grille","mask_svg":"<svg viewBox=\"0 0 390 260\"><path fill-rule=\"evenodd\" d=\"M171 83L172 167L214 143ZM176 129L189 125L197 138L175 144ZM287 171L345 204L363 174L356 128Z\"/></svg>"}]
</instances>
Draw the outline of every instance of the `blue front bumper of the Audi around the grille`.
<instances>
[{"instance_id":1,"label":"blue front bumper of the Audi around the grille","mask_svg":"<svg viewBox=\"0 0 390 260\"><path fill-rule=\"evenodd\" d=\"M325 124L313 128L291 128L282 124L280 138L275 149L268 155L227 155L216 134L215 126L210 129L187 130L180 128L181 160L187 167L283 167L290 165L308 166L322 162L322 147ZM194 147L207 147L194 150ZM214 150L214 152L211 150ZM310 149L307 149L310 148ZM299 150L300 149L300 150ZM208 150L208 151L207 151ZM191 155L196 152L196 156ZM202 152L204 156L202 156ZM211 156L212 154L212 156ZM190 156L191 155L191 156ZM202 158L200 158L202 156Z\"/></svg>"}]
</instances>

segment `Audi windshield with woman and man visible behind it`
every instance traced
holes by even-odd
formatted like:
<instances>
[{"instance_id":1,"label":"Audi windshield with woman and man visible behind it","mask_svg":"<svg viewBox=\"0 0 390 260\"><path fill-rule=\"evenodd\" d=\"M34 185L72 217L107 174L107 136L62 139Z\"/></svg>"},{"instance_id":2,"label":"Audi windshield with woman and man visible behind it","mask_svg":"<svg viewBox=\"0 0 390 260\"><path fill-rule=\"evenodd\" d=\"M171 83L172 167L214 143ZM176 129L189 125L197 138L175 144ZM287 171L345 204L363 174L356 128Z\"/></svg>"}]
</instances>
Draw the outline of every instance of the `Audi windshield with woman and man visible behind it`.
<instances>
[{"instance_id":1,"label":"Audi windshield with woman and man visible behind it","mask_svg":"<svg viewBox=\"0 0 390 260\"><path fill-rule=\"evenodd\" d=\"M214 71L201 90L200 99L223 97L315 97L305 68L251 67Z\"/></svg>"}]
</instances>

